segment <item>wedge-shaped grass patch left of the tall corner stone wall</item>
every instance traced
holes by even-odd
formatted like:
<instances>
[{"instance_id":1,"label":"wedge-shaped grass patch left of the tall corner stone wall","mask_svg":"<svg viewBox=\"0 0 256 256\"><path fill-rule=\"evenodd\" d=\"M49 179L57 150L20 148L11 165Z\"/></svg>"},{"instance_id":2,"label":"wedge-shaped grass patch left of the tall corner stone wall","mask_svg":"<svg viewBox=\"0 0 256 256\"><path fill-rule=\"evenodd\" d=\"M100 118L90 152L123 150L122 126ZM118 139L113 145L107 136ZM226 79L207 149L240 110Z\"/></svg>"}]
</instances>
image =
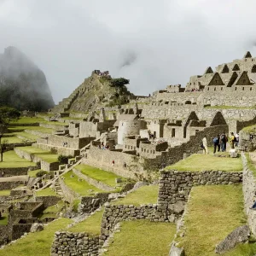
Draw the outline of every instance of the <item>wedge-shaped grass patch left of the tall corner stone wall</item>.
<instances>
[{"instance_id":1,"label":"wedge-shaped grass patch left of the tall corner stone wall","mask_svg":"<svg viewBox=\"0 0 256 256\"><path fill-rule=\"evenodd\" d=\"M113 201L114 205L134 205L156 204L158 197L158 185L143 186L125 196L119 201Z\"/></svg>"}]
</instances>

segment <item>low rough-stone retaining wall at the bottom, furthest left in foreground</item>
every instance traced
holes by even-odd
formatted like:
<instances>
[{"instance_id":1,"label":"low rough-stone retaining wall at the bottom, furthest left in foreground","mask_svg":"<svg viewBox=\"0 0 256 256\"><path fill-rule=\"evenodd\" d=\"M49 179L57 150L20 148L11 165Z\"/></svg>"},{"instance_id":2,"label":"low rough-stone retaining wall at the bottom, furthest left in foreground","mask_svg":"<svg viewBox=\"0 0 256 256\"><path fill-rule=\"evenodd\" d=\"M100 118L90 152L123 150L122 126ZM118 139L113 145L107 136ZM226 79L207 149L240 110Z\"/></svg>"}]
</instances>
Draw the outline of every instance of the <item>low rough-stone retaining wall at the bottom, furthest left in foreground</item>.
<instances>
[{"instance_id":1,"label":"low rough-stone retaining wall at the bottom, furthest left in foreground","mask_svg":"<svg viewBox=\"0 0 256 256\"><path fill-rule=\"evenodd\" d=\"M67 231L55 232L54 242L51 247L51 256L66 255L99 255L99 236L86 233L71 233Z\"/></svg>"}]
</instances>

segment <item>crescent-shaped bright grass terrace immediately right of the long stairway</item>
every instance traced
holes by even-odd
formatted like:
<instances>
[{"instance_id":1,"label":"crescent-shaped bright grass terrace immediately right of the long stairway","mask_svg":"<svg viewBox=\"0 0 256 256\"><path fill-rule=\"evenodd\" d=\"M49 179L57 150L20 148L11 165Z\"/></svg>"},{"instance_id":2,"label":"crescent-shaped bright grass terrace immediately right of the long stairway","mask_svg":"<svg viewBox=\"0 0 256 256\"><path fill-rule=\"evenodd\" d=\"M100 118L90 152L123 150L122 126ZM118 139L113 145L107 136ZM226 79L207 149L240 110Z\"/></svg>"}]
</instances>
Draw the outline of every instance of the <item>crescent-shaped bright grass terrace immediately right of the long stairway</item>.
<instances>
[{"instance_id":1,"label":"crescent-shaped bright grass terrace immediately right of the long stairway","mask_svg":"<svg viewBox=\"0 0 256 256\"><path fill-rule=\"evenodd\" d=\"M71 177L71 175L73 175L73 177ZM103 190L90 185L84 180L78 181L79 177L73 172L67 172L63 175L63 177L65 177L64 182L66 183L67 187L79 195L94 195L96 192L104 192ZM89 191L90 189L93 191Z\"/></svg>"}]
</instances>

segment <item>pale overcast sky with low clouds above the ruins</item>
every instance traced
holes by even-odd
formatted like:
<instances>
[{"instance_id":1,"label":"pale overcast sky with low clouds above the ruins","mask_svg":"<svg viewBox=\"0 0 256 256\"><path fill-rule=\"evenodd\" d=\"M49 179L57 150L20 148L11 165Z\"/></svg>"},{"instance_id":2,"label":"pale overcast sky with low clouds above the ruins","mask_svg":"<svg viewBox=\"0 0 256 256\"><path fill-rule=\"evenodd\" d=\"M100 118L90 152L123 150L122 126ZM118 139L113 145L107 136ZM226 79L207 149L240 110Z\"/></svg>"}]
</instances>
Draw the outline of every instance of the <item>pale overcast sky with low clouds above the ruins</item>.
<instances>
[{"instance_id":1,"label":"pale overcast sky with low clouds above the ruins","mask_svg":"<svg viewBox=\"0 0 256 256\"><path fill-rule=\"evenodd\" d=\"M0 53L40 67L55 102L94 69L148 95L206 67L256 55L255 0L0 0Z\"/></svg>"}]
</instances>

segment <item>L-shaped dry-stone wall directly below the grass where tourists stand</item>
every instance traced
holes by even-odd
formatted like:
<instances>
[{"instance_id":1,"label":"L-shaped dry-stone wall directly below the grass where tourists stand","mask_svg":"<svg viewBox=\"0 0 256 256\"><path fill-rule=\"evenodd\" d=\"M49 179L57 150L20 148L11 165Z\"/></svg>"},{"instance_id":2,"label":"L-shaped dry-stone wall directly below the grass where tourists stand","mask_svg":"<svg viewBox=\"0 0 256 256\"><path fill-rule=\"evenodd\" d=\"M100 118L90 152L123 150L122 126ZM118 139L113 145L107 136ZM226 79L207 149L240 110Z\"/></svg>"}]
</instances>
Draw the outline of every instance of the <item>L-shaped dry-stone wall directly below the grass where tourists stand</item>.
<instances>
[{"instance_id":1,"label":"L-shaped dry-stone wall directly below the grass where tourists stand","mask_svg":"<svg viewBox=\"0 0 256 256\"><path fill-rule=\"evenodd\" d=\"M161 172L159 182L159 207L169 214L182 214L190 190L197 185L227 185L242 181L242 172Z\"/></svg>"}]
</instances>

